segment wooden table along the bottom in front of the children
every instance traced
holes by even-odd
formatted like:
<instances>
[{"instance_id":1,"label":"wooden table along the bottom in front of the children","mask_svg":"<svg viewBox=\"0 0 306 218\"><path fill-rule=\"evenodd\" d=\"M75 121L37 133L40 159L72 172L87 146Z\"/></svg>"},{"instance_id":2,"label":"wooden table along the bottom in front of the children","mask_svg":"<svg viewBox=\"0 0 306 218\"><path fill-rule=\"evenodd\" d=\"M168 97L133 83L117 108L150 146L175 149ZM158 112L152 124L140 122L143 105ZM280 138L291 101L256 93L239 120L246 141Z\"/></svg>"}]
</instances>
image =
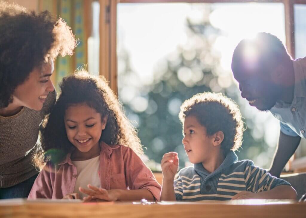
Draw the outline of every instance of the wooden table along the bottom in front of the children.
<instances>
[{"instance_id":1,"label":"wooden table along the bottom in front of the children","mask_svg":"<svg viewBox=\"0 0 306 218\"><path fill-rule=\"evenodd\" d=\"M228 202L99 202L0 200L0 217L209 217L303 218L306 203L269 200Z\"/></svg>"}]
</instances>

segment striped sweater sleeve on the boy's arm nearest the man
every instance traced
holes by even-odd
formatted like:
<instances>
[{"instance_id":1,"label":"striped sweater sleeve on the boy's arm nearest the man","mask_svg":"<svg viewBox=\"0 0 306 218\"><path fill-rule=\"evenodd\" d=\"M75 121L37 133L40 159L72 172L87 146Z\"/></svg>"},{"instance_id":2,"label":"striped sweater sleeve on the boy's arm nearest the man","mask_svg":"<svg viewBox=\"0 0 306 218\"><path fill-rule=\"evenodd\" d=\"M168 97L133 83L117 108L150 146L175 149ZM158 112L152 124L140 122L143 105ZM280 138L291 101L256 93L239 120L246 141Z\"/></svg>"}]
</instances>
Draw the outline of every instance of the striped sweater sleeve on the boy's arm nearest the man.
<instances>
[{"instance_id":1,"label":"striped sweater sleeve on the boy's arm nearest the man","mask_svg":"<svg viewBox=\"0 0 306 218\"><path fill-rule=\"evenodd\" d=\"M269 191L279 185L290 185L285 180L272 176L267 170L254 166L252 161L248 161L244 170L244 180L246 191L260 192Z\"/></svg>"}]
</instances>

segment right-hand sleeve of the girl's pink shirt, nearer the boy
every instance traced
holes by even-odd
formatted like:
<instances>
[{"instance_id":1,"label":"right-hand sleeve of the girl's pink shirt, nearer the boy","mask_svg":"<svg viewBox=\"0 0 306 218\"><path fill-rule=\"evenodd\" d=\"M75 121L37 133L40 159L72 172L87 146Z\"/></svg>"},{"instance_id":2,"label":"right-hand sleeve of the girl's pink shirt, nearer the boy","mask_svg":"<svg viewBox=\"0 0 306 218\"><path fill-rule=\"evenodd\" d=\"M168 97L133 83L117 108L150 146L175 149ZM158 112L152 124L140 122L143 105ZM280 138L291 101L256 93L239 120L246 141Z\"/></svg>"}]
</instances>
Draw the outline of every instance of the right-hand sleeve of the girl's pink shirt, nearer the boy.
<instances>
[{"instance_id":1,"label":"right-hand sleeve of the girl's pink shirt, nearer the boy","mask_svg":"<svg viewBox=\"0 0 306 218\"><path fill-rule=\"evenodd\" d=\"M125 155L126 180L130 189L147 189L159 201L162 187L156 181L152 171L138 155L127 148Z\"/></svg>"}]
</instances>

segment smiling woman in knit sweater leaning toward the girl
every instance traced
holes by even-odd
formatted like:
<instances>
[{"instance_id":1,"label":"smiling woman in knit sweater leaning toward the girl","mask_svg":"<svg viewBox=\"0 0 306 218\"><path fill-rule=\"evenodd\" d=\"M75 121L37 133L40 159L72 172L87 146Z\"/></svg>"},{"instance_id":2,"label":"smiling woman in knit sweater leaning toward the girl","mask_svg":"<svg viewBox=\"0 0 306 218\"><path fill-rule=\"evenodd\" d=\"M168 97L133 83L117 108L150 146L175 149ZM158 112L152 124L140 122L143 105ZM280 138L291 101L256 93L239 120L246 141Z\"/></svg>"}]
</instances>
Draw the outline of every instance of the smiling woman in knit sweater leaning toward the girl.
<instances>
[{"instance_id":1,"label":"smiling woman in knit sweater leaning toward the girl","mask_svg":"<svg viewBox=\"0 0 306 218\"><path fill-rule=\"evenodd\" d=\"M62 19L0 2L0 199L28 197L39 126L56 99L53 61L75 46Z\"/></svg>"}]
</instances>

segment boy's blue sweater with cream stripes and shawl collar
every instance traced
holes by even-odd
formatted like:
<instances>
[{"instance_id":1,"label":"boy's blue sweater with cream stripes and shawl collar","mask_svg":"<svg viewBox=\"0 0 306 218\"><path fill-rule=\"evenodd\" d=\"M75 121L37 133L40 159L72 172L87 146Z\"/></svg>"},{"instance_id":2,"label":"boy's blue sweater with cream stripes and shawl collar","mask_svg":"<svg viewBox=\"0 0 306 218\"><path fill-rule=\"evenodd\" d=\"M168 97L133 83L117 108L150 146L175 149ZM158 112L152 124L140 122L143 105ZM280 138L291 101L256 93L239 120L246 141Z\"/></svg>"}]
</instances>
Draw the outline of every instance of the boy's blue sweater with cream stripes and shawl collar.
<instances>
[{"instance_id":1,"label":"boy's blue sweater with cream stripes and shawl collar","mask_svg":"<svg viewBox=\"0 0 306 218\"><path fill-rule=\"evenodd\" d=\"M174 192L177 201L224 201L241 191L268 191L279 185L290 184L254 166L250 160L238 161L231 151L212 173L202 163L181 169L174 181Z\"/></svg>"}]
</instances>

